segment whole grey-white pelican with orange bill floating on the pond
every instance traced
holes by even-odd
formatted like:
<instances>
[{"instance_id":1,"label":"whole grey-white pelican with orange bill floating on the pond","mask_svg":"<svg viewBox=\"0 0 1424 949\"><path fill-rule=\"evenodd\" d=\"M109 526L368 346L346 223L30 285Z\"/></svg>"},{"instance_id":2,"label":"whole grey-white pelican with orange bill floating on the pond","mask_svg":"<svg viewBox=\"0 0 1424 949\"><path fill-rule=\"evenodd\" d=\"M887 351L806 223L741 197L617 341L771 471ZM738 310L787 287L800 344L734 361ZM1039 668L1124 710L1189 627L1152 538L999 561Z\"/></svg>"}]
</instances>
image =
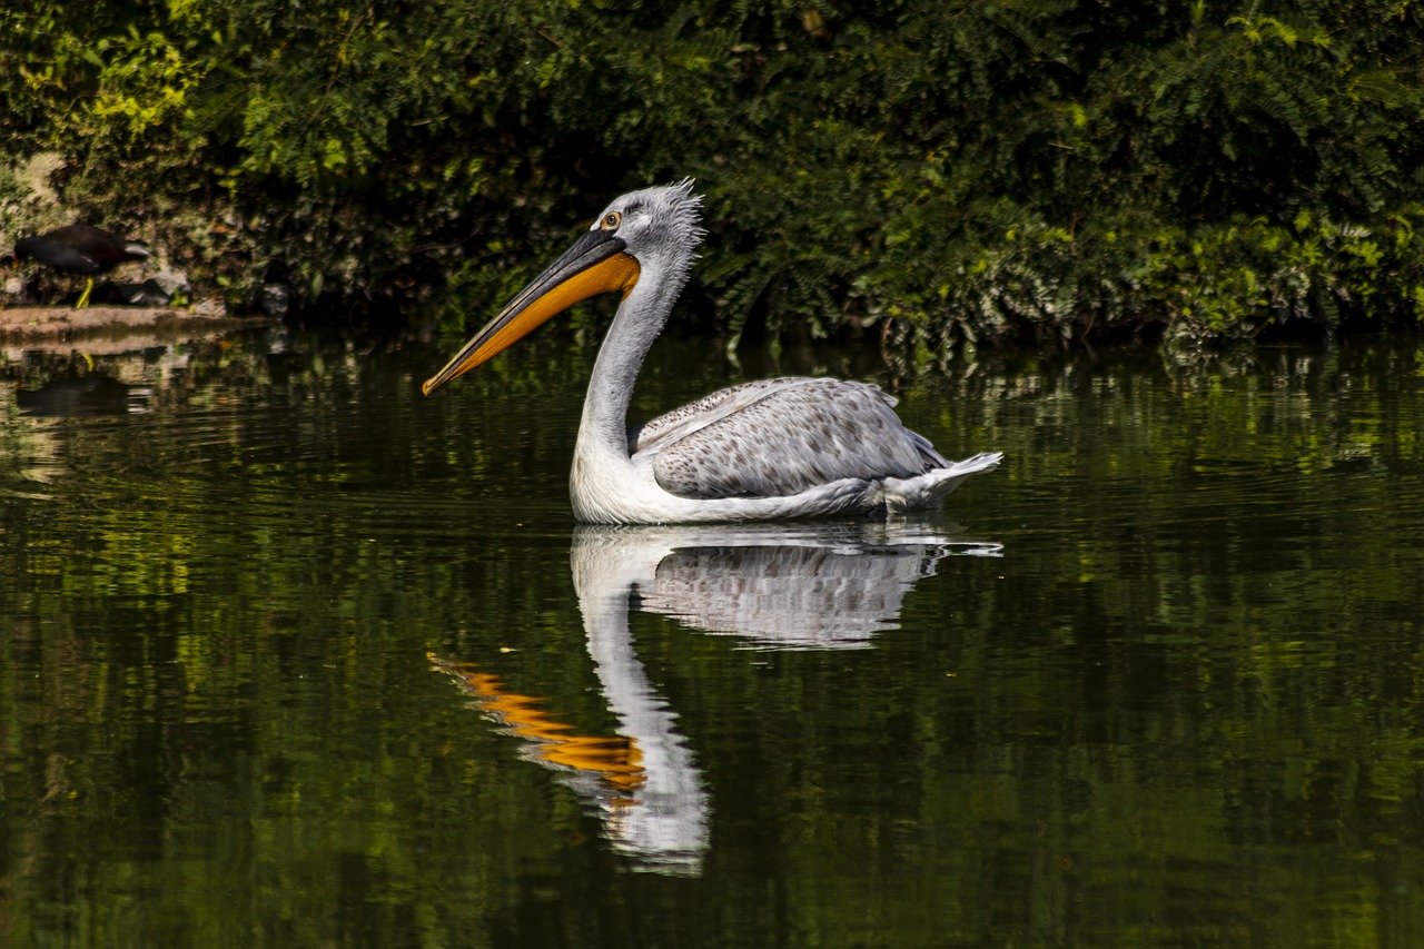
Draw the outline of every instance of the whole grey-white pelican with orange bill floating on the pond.
<instances>
[{"instance_id":1,"label":"whole grey-white pelican with orange bill floating on the pond","mask_svg":"<svg viewBox=\"0 0 1424 949\"><path fill-rule=\"evenodd\" d=\"M450 382L595 294L622 295L574 447L574 516L666 524L883 516L933 504L1004 457L948 462L904 427L879 386L763 379L713 392L635 429L628 403L702 242L692 181L625 194L474 335L423 390Z\"/></svg>"}]
</instances>

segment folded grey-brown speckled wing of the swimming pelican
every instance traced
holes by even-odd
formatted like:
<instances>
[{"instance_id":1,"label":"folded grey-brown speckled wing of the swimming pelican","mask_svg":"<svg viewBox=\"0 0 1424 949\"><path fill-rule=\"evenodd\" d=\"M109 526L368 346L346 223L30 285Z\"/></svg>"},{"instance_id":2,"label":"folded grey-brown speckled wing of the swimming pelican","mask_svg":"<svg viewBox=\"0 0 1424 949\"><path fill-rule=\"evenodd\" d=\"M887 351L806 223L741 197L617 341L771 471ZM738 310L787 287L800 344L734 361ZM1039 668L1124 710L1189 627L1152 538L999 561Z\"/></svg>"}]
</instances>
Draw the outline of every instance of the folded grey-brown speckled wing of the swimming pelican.
<instances>
[{"instance_id":1,"label":"folded grey-brown speckled wing of the swimming pelican","mask_svg":"<svg viewBox=\"0 0 1424 949\"><path fill-rule=\"evenodd\" d=\"M629 436L681 497L785 497L844 477L911 477L948 465L900 423L877 386L768 379L715 392Z\"/></svg>"}]
</instances>

